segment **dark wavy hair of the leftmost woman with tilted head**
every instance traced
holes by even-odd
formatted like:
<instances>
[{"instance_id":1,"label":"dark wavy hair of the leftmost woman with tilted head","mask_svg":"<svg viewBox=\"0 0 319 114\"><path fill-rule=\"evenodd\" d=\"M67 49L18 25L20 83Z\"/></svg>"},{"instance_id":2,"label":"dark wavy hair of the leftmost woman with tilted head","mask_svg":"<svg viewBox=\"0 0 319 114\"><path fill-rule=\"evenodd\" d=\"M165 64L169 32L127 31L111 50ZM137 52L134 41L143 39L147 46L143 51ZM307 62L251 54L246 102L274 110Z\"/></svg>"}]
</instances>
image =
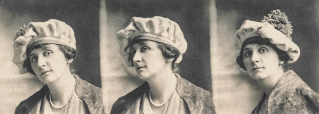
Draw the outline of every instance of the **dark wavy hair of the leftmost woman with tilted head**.
<instances>
[{"instance_id":1,"label":"dark wavy hair of the leftmost woman with tilted head","mask_svg":"<svg viewBox=\"0 0 319 114\"><path fill-rule=\"evenodd\" d=\"M41 47L44 47L44 46L47 46L48 44L40 44L40 45L37 45L37 46L34 46L32 49L26 49L26 55L27 55L27 58L26 58L26 61L24 61L24 64L23 64L23 67L25 67L28 71L28 73L32 74L32 75L36 75L34 72L33 72L33 69L32 69L32 66L31 66L31 61L30 61L30 56L29 54L31 53L31 51L33 49L37 49L37 48L41 48ZM59 49L62 51L62 53L64 54L65 58L66 59L75 59L76 55L77 55L77 50L76 49L73 49L69 46L64 46L64 45L59 45L59 44L56 44L59 46ZM73 69L72 65L70 64L70 72L71 73L75 73L76 71Z\"/></svg>"}]
</instances>

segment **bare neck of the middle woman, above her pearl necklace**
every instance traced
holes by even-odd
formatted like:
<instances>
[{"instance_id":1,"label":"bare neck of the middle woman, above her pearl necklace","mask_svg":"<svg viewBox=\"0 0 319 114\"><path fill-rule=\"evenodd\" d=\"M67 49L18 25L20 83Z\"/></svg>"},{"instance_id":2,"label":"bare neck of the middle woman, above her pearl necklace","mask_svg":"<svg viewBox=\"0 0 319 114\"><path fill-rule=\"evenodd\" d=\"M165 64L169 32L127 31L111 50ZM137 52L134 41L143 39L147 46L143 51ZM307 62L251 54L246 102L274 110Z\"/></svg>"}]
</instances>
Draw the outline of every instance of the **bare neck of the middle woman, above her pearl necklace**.
<instances>
[{"instance_id":1,"label":"bare neck of the middle woman, above her pearl necklace","mask_svg":"<svg viewBox=\"0 0 319 114\"><path fill-rule=\"evenodd\" d=\"M160 104L165 102L172 93L177 78L174 71L169 68L164 69L145 81L148 82L150 86L152 101Z\"/></svg>"}]
</instances>

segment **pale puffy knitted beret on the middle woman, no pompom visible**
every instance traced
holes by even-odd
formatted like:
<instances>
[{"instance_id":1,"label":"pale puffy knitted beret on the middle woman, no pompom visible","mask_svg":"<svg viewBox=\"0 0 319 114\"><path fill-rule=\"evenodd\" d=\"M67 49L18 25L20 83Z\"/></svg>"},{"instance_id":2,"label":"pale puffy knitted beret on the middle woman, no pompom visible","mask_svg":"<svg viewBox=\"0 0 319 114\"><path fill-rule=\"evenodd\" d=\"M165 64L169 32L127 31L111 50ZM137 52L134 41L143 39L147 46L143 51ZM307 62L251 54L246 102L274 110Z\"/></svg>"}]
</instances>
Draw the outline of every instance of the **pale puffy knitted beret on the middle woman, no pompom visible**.
<instances>
[{"instance_id":1,"label":"pale puffy knitted beret on the middle woman, no pompom visible","mask_svg":"<svg viewBox=\"0 0 319 114\"><path fill-rule=\"evenodd\" d=\"M131 43L136 39L148 39L177 48L180 55L176 63L182 61L182 54L186 52L187 48L187 42L179 25L168 18L158 16L153 18L133 17L125 29L117 32L117 40L121 48L120 54L124 60L127 60ZM132 66L130 61L126 63Z\"/></svg>"}]
</instances>

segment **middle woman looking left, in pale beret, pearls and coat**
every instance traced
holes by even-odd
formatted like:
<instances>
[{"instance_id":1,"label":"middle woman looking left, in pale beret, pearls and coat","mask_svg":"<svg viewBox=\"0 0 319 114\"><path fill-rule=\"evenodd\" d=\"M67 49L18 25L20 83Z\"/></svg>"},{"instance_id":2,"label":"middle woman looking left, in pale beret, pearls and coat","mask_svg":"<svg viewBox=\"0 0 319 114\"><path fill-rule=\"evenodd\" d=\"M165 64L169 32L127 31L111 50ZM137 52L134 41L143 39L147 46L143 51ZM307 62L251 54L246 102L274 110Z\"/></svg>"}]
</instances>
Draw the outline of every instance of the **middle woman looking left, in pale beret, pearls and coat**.
<instances>
[{"instance_id":1,"label":"middle woman looking left, in pale beret, pearls and coat","mask_svg":"<svg viewBox=\"0 0 319 114\"><path fill-rule=\"evenodd\" d=\"M111 114L215 113L211 93L177 74L187 48L177 23L163 17L133 17L117 34L124 60L146 82L120 97Z\"/></svg>"}]
</instances>

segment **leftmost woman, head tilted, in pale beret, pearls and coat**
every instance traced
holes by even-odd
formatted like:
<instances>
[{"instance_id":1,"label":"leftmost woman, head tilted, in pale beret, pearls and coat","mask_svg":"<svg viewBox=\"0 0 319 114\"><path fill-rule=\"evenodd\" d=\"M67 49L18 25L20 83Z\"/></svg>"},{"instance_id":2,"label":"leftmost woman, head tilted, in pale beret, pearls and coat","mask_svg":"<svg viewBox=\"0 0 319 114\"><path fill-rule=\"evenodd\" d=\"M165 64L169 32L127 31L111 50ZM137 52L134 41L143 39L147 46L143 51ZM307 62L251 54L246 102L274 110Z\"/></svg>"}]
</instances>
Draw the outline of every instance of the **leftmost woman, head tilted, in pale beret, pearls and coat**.
<instances>
[{"instance_id":1,"label":"leftmost woman, head tilted, in pale beret, pearls and coat","mask_svg":"<svg viewBox=\"0 0 319 114\"><path fill-rule=\"evenodd\" d=\"M104 113L101 89L72 74L76 56L73 29L64 22L31 22L14 39L13 62L46 84L22 101L16 114Z\"/></svg>"}]
</instances>

